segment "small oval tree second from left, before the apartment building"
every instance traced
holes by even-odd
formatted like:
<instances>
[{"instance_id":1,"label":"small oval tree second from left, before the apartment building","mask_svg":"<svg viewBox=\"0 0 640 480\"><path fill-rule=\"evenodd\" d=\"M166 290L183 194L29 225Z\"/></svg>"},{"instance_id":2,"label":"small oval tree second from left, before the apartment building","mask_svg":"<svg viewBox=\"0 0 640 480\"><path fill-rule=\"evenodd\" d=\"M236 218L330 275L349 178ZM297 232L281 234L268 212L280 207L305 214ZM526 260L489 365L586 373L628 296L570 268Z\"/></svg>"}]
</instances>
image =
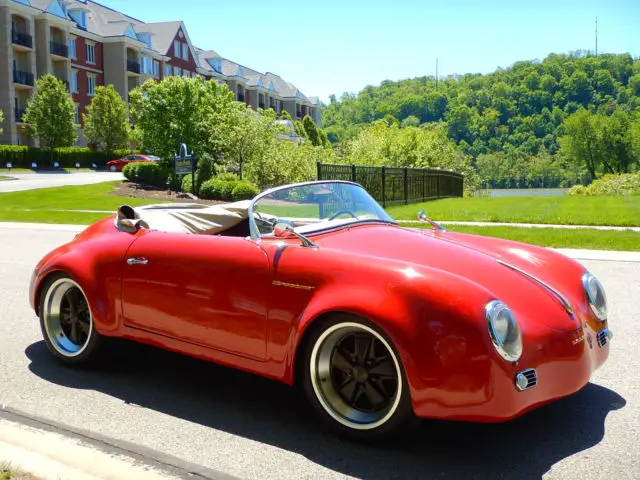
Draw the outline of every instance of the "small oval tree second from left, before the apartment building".
<instances>
[{"instance_id":1,"label":"small oval tree second from left, before the apartment building","mask_svg":"<svg viewBox=\"0 0 640 480\"><path fill-rule=\"evenodd\" d=\"M90 143L100 145L109 154L129 144L131 127L127 105L113 85L96 87L84 118L84 135Z\"/></svg>"}]
</instances>

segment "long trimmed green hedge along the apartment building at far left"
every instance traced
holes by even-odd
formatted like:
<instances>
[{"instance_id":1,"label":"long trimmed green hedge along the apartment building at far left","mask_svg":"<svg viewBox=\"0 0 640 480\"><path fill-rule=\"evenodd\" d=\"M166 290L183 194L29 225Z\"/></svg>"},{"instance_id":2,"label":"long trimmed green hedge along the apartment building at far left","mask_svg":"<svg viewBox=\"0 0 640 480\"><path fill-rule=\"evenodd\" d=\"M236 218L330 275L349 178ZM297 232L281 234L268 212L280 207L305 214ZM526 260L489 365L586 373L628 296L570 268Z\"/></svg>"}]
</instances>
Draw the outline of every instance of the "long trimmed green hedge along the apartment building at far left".
<instances>
[{"instance_id":1,"label":"long trimmed green hedge along the apartment building at far left","mask_svg":"<svg viewBox=\"0 0 640 480\"><path fill-rule=\"evenodd\" d=\"M60 168L75 168L76 162L81 168L96 168L102 170L109 160L129 155L130 150L118 150L112 155L105 152L91 150L90 148L65 147L53 150L45 148L25 147L21 145L0 145L0 168L6 168L7 163L11 163L12 168L31 168L31 163L35 162L37 170L51 170L55 162Z\"/></svg>"}]
</instances>

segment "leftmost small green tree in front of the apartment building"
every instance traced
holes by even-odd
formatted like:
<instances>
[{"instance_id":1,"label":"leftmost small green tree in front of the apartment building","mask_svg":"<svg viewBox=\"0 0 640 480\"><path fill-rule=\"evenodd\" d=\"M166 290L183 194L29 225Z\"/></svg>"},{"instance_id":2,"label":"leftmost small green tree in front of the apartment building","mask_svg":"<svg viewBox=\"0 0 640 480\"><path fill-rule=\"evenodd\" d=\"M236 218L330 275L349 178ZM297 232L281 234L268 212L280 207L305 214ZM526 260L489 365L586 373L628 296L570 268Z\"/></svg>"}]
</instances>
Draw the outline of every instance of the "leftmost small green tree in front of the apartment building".
<instances>
[{"instance_id":1,"label":"leftmost small green tree in front of the apartment building","mask_svg":"<svg viewBox=\"0 0 640 480\"><path fill-rule=\"evenodd\" d=\"M36 91L22 117L27 131L46 147L70 147L77 140L75 105L61 80L47 73L36 82Z\"/></svg>"}]
</instances>

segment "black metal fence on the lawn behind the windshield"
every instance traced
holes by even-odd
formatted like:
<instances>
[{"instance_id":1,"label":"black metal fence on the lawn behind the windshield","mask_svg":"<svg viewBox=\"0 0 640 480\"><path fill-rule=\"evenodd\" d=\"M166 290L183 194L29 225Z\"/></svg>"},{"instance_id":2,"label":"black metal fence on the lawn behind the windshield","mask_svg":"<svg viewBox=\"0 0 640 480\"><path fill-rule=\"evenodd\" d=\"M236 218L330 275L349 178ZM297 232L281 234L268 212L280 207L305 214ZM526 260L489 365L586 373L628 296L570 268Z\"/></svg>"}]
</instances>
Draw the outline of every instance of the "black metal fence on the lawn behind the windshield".
<instances>
[{"instance_id":1,"label":"black metal fence on the lawn behind the windshield","mask_svg":"<svg viewBox=\"0 0 640 480\"><path fill-rule=\"evenodd\" d=\"M462 197L464 176L438 168L365 167L318 163L318 180L348 180L362 185L382 204Z\"/></svg>"}]
</instances>

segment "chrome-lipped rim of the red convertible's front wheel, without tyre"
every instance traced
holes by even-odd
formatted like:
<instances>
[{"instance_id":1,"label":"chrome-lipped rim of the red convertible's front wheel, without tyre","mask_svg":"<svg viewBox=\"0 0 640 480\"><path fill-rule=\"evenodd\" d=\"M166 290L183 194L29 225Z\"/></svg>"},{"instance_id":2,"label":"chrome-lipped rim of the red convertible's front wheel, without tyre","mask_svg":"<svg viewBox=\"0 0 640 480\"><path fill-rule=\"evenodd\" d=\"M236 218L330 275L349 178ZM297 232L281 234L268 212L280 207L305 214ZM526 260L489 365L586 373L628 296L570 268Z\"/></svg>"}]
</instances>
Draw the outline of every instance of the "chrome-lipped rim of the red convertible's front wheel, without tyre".
<instances>
[{"instance_id":1,"label":"chrome-lipped rim of the red convertible's front wheel, without tyre","mask_svg":"<svg viewBox=\"0 0 640 480\"><path fill-rule=\"evenodd\" d=\"M310 373L316 398L346 427L377 428L398 409L400 364L389 343L365 325L346 322L325 330L311 353Z\"/></svg>"}]
</instances>

